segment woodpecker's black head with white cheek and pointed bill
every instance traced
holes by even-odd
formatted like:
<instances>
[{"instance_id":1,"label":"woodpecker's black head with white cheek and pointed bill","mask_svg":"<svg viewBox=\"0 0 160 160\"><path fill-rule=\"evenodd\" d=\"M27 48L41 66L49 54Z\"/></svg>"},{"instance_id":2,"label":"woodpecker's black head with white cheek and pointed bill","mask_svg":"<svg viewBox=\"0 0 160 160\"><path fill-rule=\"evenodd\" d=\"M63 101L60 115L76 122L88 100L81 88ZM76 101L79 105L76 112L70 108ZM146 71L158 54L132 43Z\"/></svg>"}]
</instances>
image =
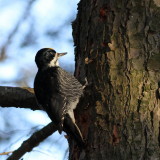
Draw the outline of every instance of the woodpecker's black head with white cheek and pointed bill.
<instances>
[{"instance_id":1,"label":"woodpecker's black head with white cheek and pointed bill","mask_svg":"<svg viewBox=\"0 0 160 160\"><path fill-rule=\"evenodd\" d=\"M57 53L52 48L42 48L37 52L35 57L35 62L39 69L56 67L56 66L59 66L59 63L58 63L59 57L64 56L65 54L67 53L66 52Z\"/></svg>"}]
</instances>

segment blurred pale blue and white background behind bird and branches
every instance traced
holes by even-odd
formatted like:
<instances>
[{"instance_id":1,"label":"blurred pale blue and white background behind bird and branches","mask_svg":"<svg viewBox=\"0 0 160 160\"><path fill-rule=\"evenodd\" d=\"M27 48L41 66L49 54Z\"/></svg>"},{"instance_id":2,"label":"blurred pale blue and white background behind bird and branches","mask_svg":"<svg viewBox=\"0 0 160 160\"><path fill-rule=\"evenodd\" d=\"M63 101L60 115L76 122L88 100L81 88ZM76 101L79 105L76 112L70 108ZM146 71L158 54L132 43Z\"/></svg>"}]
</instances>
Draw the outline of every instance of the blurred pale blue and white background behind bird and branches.
<instances>
[{"instance_id":1,"label":"blurred pale blue and white background behind bird and branches","mask_svg":"<svg viewBox=\"0 0 160 160\"><path fill-rule=\"evenodd\" d=\"M74 71L71 22L79 0L0 0L0 85L33 87L36 52L44 47L68 52L60 65ZM0 108L0 153L17 149L50 119L43 111ZM68 144L57 132L24 160L67 159ZM7 156L1 156L5 160Z\"/></svg>"}]
</instances>

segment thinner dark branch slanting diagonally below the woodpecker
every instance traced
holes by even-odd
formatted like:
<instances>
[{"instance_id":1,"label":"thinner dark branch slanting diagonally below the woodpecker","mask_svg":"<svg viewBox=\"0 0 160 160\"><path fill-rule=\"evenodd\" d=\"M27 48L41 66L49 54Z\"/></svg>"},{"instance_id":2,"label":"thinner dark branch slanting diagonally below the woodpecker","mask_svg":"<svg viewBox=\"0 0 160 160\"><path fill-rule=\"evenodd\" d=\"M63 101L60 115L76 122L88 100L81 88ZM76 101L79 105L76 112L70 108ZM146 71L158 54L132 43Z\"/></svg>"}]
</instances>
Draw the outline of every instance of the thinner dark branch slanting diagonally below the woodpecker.
<instances>
[{"instance_id":1,"label":"thinner dark branch slanting diagonally below the woodpecker","mask_svg":"<svg viewBox=\"0 0 160 160\"><path fill-rule=\"evenodd\" d=\"M51 122L40 131L35 132L29 139L24 141L22 145L13 152L7 160L19 160L26 152L30 152L40 142L50 136L57 130L56 126Z\"/></svg>"}]
</instances>

